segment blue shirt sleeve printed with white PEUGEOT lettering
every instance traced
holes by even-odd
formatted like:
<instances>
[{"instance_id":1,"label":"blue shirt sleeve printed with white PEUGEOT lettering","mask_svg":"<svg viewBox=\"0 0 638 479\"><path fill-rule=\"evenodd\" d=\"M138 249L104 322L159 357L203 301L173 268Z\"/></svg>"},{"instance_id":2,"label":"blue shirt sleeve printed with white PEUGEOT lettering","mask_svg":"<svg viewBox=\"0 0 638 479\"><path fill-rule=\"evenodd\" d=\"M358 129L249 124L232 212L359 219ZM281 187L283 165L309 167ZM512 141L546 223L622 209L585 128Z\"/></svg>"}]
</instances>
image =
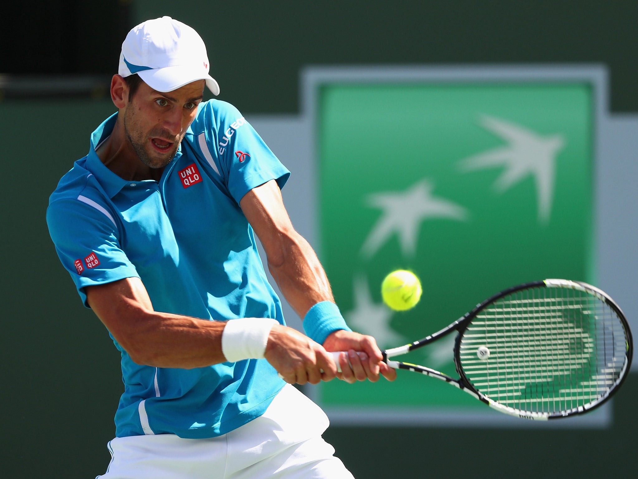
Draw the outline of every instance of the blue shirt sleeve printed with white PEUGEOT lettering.
<instances>
[{"instance_id":1,"label":"blue shirt sleeve printed with white PEUGEOT lettering","mask_svg":"<svg viewBox=\"0 0 638 479\"><path fill-rule=\"evenodd\" d=\"M276 179L283 188L290 171L233 105L213 100L204 111L207 144L221 167L226 188L239 203L256 186Z\"/></svg>"}]
</instances>

